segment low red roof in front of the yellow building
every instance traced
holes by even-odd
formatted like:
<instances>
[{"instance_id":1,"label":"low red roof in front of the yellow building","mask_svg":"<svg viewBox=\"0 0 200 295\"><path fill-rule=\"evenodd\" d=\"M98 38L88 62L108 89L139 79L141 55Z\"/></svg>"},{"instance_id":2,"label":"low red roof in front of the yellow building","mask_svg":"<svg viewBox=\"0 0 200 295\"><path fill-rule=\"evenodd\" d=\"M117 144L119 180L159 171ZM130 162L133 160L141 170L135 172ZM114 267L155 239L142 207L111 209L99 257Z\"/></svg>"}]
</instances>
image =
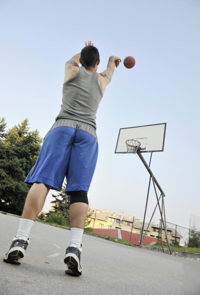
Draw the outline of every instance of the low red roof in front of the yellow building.
<instances>
[{"instance_id":1,"label":"low red roof in front of the yellow building","mask_svg":"<svg viewBox=\"0 0 200 295\"><path fill-rule=\"evenodd\" d=\"M123 230L120 230L120 231L121 231L122 239L129 242L130 234L131 234L130 231L123 231ZM94 234L103 234L103 235L106 235L106 236L111 236L111 237L114 237L114 238L118 238L118 230L117 229L93 228L93 233ZM130 242L132 244L134 244L134 245L139 246L140 245L139 237L140 237L139 234L135 234L135 233L132 232ZM144 238L144 241L143 241L142 245L144 245L144 244L149 245L151 242L157 242L157 238L152 238L152 237L146 236Z\"/></svg>"}]
</instances>

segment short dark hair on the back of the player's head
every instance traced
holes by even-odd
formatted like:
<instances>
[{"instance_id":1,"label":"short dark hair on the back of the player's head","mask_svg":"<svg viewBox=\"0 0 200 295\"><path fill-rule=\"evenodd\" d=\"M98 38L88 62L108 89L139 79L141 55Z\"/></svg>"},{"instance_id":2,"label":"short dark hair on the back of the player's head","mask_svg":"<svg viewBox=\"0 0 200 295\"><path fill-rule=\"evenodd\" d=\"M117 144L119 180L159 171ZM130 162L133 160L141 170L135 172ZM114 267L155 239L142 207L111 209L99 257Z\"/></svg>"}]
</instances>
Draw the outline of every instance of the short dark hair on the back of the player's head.
<instances>
[{"instance_id":1,"label":"short dark hair on the back of the player's head","mask_svg":"<svg viewBox=\"0 0 200 295\"><path fill-rule=\"evenodd\" d=\"M85 46L81 50L80 59L83 67L95 67L99 59L98 49L92 45Z\"/></svg>"}]
</instances>

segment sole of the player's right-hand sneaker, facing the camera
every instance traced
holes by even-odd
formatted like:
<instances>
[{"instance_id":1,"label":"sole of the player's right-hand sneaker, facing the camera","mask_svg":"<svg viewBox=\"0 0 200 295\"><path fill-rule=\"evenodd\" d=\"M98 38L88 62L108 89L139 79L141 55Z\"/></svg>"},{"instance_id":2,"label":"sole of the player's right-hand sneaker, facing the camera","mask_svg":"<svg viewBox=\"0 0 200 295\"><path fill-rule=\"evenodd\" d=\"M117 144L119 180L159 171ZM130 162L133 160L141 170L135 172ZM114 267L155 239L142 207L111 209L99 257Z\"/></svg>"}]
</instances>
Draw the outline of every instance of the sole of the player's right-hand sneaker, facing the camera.
<instances>
[{"instance_id":1,"label":"sole of the player's right-hand sneaker, facing the camera","mask_svg":"<svg viewBox=\"0 0 200 295\"><path fill-rule=\"evenodd\" d=\"M75 254L66 254L64 262L67 265L65 270L66 274L76 276L82 274L82 267L80 266L79 259Z\"/></svg>"}]
</instances>

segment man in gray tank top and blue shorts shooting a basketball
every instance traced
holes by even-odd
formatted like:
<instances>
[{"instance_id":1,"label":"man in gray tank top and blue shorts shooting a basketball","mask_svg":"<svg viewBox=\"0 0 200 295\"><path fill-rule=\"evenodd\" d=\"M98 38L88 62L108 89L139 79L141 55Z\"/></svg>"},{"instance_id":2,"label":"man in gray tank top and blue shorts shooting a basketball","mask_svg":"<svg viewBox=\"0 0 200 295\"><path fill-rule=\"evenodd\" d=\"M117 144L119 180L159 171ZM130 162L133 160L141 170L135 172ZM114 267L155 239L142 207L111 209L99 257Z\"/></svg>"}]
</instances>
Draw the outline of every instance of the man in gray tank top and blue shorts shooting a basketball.
<instances>
[{"instance_id":1,"label":"man in gray tank top and blue shorts shooting a basketball","mask_svg":"<svg viewBox=\"0 0 200 295\"><path fill-rule=\"evenodd\" d=\"M38 160L25 179L32 187L26 197L17 234L5 253L5 262L21 263L29 244L30 230L49 190L61 191L66 176L71 233L64 258L65 272L81 275L81 239L88 210L87 192L98 157L96 112L114 68L120 62L119 57L109 57L107 69L98 74L99 52L91 41L85 42L81 53L66 62L61 110L44 138Z\"/></svg>"}]
</instances>

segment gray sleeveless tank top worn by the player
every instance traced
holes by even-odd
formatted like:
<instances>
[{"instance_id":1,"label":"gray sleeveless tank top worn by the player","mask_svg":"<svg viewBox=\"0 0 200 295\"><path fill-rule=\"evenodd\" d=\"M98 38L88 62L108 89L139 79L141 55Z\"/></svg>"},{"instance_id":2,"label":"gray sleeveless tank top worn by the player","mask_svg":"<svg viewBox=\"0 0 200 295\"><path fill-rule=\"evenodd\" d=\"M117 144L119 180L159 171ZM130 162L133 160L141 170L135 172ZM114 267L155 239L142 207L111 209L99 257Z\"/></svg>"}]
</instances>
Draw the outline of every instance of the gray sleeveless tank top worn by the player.
<instances>
[{"instance_id":1,"label":"gray sleeveless tank top worn by the player","mask_svg":"<svg viewBox=\"0 0 200 295\"><path fill-rule=\"evenodd\" d=\"M88 73L84 67L79 67L78 74L63 84L61 110L56 121L71 119L96 129L96 112L102 97L98 73Z\"/></svg>"}]
</instances>

